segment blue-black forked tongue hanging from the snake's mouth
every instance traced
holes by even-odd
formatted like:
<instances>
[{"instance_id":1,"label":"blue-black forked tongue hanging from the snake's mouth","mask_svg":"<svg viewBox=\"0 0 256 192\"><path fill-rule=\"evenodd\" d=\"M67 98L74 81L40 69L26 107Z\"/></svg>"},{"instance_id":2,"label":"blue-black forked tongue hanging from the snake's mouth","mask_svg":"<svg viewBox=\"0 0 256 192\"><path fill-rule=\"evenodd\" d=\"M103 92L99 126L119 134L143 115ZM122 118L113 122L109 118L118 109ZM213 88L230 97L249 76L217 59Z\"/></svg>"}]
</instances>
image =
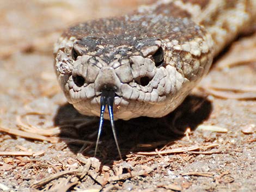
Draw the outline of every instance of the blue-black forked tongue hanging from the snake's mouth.
<instances>
[{"instance_id":1,"label":"blue-black forked tongue hanging from the snake's mouth","mask_svg":"<svg viewBox=\"0 0 256 192\"><path fill-rule=\"evenodd\" d=\"M109 118L110 118L110 122L111 122L111 128L112 128L112 132L113 132L113 135L114 135L115 144L117 145L117 150L118 150L120 159L122 159L120 148L119 148L118 141L117 141L117 134L115 133L115 126L114 126L114 115L113 115L114 97L115 97L115 92L113 90L103 90L101 92L101 97L100 97L100 125L99 125L99 131L98 131L98 135L97 135L97 141L96 141L94 156L96 156L97 147L98 147L98 144L99 144L100 134L101 134L103 120L104 120L103 115L104 115L104 112L105 112L105 108L107 106L108 113L109 113Z\"/></svg>"}]
</instances>

